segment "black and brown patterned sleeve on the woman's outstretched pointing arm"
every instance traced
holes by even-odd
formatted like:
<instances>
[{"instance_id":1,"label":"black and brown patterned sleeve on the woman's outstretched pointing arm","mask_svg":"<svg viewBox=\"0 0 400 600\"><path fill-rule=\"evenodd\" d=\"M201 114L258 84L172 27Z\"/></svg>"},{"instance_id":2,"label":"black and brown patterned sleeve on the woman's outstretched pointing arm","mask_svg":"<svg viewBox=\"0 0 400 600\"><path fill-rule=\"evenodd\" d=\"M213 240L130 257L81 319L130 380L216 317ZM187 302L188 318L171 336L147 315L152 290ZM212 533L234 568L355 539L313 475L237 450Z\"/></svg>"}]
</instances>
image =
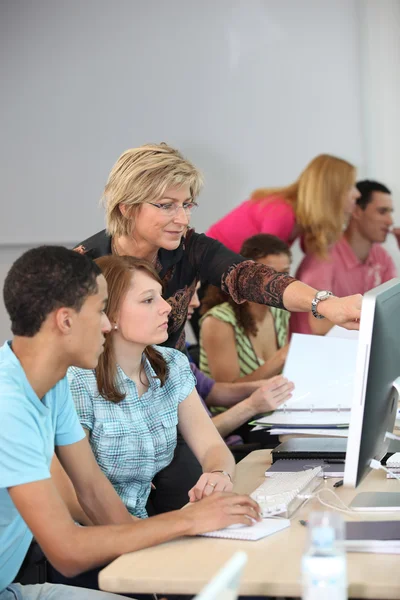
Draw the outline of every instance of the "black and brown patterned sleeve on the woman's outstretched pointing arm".
<instances>
[{"instance_id":1,"label":"black and brown patterned sleeve on the woman's outstretched pointing arm","mask_svg":"<svg viewBox=\"0 0 400 600\"><path fill-rule=\"evenodd\" d=\"M204 234L193 233L187 251L200 279L220 287L238 304L248 300L285 308L283 292L296 281L290 275L247 260Z\"/></svg>"}]
</instances>

